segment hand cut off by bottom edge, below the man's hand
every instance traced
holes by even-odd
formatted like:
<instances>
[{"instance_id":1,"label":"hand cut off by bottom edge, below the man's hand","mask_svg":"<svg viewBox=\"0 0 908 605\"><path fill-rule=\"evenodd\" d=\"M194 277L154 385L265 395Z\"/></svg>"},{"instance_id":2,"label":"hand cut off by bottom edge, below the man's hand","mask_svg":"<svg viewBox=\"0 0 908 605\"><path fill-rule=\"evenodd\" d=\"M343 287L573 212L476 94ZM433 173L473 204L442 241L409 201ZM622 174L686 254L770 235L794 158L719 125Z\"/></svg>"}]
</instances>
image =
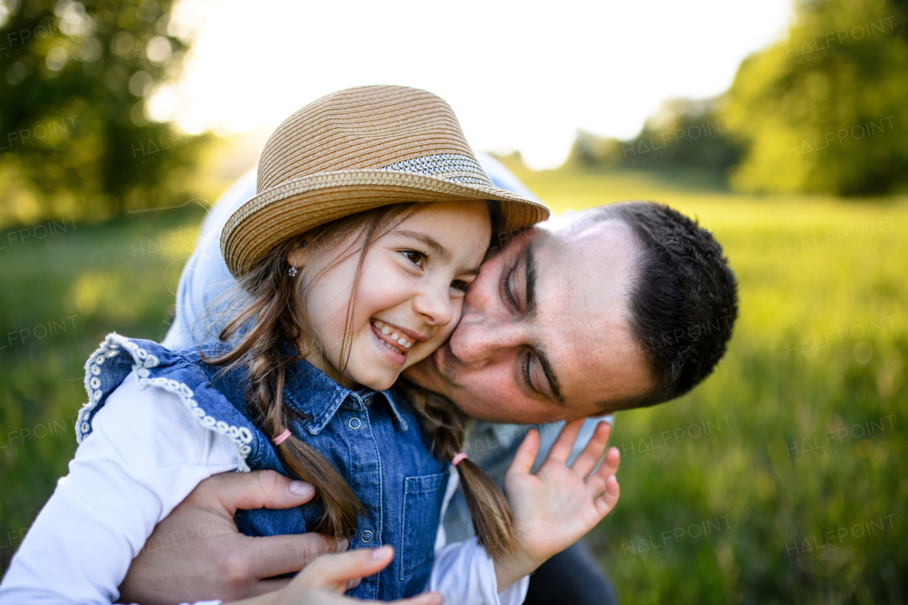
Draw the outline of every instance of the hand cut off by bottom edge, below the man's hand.
<instances>
[{"instance_id":1,"label":"hand cut off by bottom edge, below the man's hand","mask_svg":"<svg viewBox=\"0 0 908 605\"><path fill-rule=\"evenodd\" d=\"M357 549L341 554L323 555L313 560L305 570L283 589L270 594L229 603L228 605L355 605L379 601L355 600L344 597L350 585L384 569L394 559L394 549ZM395 600L398 605L441 605L438 592L426 592L410 599Z\"/></svg>"}]
</instances>

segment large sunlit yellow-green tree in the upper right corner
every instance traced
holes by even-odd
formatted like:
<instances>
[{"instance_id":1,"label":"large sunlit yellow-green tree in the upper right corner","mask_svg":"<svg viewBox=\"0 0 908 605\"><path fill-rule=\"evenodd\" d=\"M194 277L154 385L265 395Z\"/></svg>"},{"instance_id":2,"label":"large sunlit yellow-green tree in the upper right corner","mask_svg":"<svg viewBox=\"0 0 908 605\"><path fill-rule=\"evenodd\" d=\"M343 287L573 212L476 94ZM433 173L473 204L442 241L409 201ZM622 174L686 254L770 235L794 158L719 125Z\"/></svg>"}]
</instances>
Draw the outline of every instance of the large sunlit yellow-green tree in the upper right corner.
<instances>
[{"instance_id":1,"label":"large sunlit yellow-green tree in the upper right corner","mask_svg":"<svg viewBox=\"0 0 908 605\"><path fill-rule=\"evenodd\" d=\"M721 113L745 145L742 191L908 190L908 3L796 2L784 42L738 68Z\"/></svg>"}]
</instances>

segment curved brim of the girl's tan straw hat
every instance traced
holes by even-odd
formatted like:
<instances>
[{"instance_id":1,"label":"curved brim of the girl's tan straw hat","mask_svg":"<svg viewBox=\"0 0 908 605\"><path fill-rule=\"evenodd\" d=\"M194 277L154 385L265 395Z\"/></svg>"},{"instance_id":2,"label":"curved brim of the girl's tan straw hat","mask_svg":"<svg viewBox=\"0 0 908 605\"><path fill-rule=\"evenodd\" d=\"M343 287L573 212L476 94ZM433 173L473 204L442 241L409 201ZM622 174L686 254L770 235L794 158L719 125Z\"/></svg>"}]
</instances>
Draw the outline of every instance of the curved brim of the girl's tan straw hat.
<instances>
[{"instance_id":1,"label":"curved brim of the girl's tan straw hat","mask_svg":"<svg viewBox=\"0 0 908 605\"><path fill-rule=\"evenodd\" d=\"M524 229L548 218L548 208L528 197L428 174L392 170L342 170L311 174L259 193L224 225L221 253L234 277L248 273L271 248L294 235L350 214L391 203L496 200L505 229Z\"/></svg>"}]
</instances>

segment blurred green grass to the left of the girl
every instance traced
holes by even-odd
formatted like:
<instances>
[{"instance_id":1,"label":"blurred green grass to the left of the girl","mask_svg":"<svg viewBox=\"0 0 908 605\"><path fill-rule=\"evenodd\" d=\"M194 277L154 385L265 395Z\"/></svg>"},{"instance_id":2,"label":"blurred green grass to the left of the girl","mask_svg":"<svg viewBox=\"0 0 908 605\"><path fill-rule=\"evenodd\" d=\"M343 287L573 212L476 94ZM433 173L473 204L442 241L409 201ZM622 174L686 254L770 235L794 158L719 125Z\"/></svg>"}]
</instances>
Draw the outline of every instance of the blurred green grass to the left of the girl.
<instances>
[{"instance_id":1,"label":"blurred green grass to the left of the girl","mask_svg":"<svg viewBox=\"0 0 908 605\"><path fill-rule=\"evenodd\" d=\"M163 338L201 220L193 204L0 230L0 569L67 473L85 359L108 332Z\"/></svg>"}]
</instances>

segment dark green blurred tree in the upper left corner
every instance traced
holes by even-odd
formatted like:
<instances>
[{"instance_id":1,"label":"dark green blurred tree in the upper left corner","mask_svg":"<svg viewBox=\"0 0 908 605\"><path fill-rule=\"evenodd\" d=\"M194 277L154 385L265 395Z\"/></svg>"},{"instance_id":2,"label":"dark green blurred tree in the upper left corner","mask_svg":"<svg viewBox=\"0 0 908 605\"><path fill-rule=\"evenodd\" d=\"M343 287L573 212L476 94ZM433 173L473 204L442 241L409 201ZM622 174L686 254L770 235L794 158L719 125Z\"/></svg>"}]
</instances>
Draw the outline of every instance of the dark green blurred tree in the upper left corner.
<instances>
[{"instance_id":1,"label":"dark green blurred tree in the upper left corner","mask_svg":"<svg viewBox=\"0 0 908 605\"><path fill-rule=\"evenodd\" d=\"M173 203L195 143L146 108L188 49L172 4L0 0L0 223Z\"/></svg>"}]
</instances>

